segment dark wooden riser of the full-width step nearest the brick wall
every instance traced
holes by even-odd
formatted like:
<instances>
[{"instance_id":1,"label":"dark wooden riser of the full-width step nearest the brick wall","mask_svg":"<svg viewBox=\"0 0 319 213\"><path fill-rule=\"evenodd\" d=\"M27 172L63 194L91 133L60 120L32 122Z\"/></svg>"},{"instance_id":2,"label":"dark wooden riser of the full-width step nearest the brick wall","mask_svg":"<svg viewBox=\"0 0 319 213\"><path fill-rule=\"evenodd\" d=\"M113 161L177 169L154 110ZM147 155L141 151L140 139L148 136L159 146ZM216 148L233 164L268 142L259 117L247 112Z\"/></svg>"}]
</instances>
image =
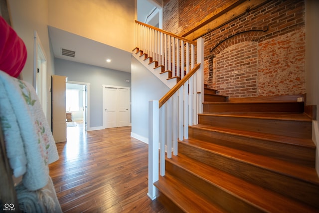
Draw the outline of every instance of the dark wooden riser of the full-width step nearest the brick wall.
<instances>
[{"instance_id":1,"label":"dark wooden riser of the full-width step nearest the brick wall","mask_svg":"<svg viewBox=\"0 0 319 213\"><path fill-rule=\"evenodd\" d=\"M304 112L304 102L296 103L204 103L204 112Z\"/></svg>"}]
</instances>

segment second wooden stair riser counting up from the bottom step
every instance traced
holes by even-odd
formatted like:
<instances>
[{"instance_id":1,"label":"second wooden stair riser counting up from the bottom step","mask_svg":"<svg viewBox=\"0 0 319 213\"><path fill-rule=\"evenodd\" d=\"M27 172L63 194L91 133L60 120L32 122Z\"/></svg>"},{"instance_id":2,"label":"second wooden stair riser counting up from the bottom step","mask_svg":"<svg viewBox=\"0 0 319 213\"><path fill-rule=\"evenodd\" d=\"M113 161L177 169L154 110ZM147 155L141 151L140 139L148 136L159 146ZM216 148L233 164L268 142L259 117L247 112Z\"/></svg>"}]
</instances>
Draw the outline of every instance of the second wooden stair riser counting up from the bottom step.
<instances>
[{"instance_id":1,"label":"second wooden stair riser counting up from the bottom step","mask_svg":"<svg viewBox=\"0 0 319 213\"><path fill-rule=\"evenodd\" d=\"M201 193L205 199L210 202L221 206L229 213L258 213L263 212L257 209L254 206L251 206L244 201L240 200L238 197L233 194L229 194L218 186L207 182L197 176L189 173L183 168L178 167L177 165L172 164L170 161L166 160L165 170L170 175L179 179L181 182L184 182L190 186L190 188L196 193Z\"/></svg>"}]
</instances>

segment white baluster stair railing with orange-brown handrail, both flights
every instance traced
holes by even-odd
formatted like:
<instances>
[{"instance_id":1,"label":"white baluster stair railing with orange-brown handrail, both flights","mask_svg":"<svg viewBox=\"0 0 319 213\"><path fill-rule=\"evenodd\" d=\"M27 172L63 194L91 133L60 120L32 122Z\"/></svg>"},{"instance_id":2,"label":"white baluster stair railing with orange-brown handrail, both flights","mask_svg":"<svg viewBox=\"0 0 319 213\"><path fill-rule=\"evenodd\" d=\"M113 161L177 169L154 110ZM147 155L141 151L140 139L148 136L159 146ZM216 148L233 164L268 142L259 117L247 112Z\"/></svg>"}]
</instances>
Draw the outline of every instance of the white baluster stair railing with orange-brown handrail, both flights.
<instances>
[{"instance_id":1,"label":"white baluster stair railing with orange-brown handrail, both flights","mask_svg":"<svg viewBox=\"0 0 319 213\"><path fill-rule=\"evenodd\" d=\"M154 200L159 171L165 175L165 151L167 158L178 154L177 141L188 139L188 126L202 113L204 44L202 38L190 41L139 21L135 27L136 47L181 78L160 100L149 102L148 196Z\"/></svg>"}]
</instances>

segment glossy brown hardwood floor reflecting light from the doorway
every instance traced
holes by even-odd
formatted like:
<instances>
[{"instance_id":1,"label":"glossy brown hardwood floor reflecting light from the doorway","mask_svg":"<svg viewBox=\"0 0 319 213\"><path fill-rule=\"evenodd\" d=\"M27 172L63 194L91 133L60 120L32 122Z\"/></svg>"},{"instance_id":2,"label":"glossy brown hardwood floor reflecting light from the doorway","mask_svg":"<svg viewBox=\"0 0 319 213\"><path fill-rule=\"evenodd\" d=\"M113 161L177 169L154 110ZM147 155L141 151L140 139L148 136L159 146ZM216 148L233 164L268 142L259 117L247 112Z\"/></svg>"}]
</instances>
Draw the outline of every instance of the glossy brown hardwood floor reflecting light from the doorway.
<instances>
[{"instance_id":1,"label":"glossy brown hardwood floor reflecting light from the doorway","mask_svg":"<svg viewBox=\"0 0 319 213\"><path fill-rule=\"evenodd\" d=\"M147 196L148 145L130 137L131 127L85 132L75 124L49 167L64 213L167 212Z\"/></svg>"}]
</instances>

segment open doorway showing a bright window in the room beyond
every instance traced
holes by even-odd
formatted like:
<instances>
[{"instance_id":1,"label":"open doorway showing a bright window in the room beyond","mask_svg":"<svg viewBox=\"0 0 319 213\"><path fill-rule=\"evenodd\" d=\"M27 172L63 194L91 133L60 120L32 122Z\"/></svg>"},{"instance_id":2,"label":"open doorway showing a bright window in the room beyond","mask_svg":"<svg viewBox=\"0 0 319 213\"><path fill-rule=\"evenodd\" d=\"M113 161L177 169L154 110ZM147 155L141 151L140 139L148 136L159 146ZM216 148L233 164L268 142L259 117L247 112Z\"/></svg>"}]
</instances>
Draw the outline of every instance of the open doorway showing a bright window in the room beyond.
<instances>
[{"instance_id":1,"label":"open doorway showing a bright window in the room beyond","mask_svg":"<svg viewBox=\"0 0 319 213\"><path fill-rule=\"evenodd\" d=\"M66 112L67 115L69 115L67 121L83 121L83 128L85 129L85 131L87 131L90 120L89 88L90 83L77 81L66 82Z\"/></svg>"}]
</instances>

